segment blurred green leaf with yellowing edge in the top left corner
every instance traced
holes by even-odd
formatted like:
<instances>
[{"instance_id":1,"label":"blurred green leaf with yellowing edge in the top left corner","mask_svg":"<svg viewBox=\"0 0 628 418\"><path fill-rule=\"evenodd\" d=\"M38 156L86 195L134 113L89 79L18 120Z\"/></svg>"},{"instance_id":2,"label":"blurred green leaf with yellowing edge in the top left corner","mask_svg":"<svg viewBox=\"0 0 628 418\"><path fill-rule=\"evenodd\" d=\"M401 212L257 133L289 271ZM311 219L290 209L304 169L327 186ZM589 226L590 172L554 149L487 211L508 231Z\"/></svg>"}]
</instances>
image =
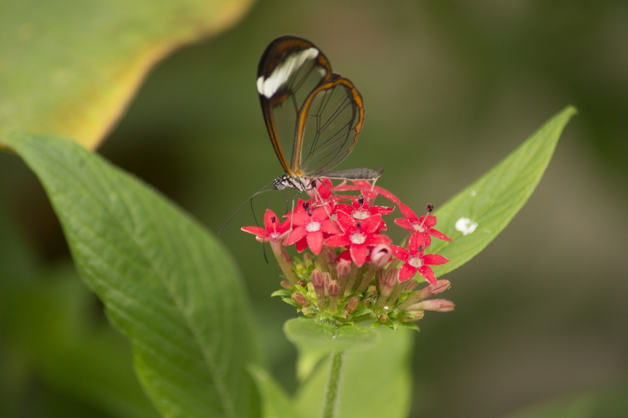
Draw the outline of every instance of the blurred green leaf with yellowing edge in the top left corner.
<instances>
[{"instance_id":1,"label":"blurred green leaf with yellowing edge in the top left corner","mask_svg":"<svg viewBox=\"0 0 628 418\"><path fill-rule=\"evenodd\" d=\"M232 25L251 0L19 1L0 13L0 131L95 148L155 62Z\"/></svg>"}]
</instances>

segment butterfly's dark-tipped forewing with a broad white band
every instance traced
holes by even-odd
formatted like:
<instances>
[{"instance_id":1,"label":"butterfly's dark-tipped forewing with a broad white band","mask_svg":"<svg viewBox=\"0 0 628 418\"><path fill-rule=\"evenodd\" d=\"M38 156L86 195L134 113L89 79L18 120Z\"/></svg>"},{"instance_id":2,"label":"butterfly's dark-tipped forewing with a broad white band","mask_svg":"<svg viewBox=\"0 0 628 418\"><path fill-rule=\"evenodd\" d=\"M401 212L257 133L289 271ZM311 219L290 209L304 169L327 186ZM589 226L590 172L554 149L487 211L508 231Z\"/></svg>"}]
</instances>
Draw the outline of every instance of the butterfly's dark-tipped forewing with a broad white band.
<instances>
[{"instance_id":1,"label":"butterfly's dark-tipped forewing with a broad white band","mask_svg":"<svg viewBox=\"0 0 628 418\"><path fill-rule=\"evenodd\" d=\"M310 41L296 36L281 36L271 42L259 61L257 93L264 121L279 162L290 175L295 174L293 162L298 160L298 114L311 92L331 76L325 55ZM290 155L290 164L285 155Z\"/></svg>"}]
</instances>

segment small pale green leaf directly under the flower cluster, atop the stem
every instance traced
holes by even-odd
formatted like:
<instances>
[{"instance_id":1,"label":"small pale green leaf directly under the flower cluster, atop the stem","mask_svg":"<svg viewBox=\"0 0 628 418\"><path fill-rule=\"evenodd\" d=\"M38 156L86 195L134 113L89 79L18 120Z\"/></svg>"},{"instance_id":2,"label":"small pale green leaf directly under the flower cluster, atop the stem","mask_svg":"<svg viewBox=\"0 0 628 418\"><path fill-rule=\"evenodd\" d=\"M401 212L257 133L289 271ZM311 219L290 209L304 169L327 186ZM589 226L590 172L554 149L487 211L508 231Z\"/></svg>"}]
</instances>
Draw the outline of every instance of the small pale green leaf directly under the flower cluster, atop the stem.
<instances>
[{"instance_id":1,"label":"small pale green leaf directly under the flower cluster, atop the stem","mask_svg":"<svg viewBox=\"0 0 628 418\"><path fill-rule=\"evenodd\" d=\"M371 348L379 341L379 333L374 329L337 327L303 317L286 321L283 331L299 349L296 377L300 382L308 378L317 363L332 351Z\"/></svg>"}]
</instances>

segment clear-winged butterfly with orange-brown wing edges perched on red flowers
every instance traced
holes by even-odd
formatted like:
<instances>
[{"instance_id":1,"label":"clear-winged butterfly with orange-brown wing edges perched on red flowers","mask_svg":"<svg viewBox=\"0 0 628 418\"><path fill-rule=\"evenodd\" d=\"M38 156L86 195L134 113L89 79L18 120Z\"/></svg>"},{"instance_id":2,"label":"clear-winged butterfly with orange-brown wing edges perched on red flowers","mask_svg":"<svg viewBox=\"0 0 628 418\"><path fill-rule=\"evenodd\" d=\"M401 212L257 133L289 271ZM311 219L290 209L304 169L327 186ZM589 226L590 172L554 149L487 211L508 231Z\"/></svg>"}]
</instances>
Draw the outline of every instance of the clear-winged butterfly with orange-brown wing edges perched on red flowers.
<instances>
[{"instance_id":1,"label":"clear-winged butterfly with orange-brown wing edges perched on red flowers","mask_svg":"<svg viewBox=\"0 0 628 418\"><path fill-rule=\"evenodd\" d=\"M370 168L330 171L353 150L364 122L364 103L354 84L332 72L313 43L290 35L273 40L259 60L257 93L268 135L285 171L274 179L274 189L303 192L317 178L380 177L381 170Z\"/></svg>"}]
</instances>

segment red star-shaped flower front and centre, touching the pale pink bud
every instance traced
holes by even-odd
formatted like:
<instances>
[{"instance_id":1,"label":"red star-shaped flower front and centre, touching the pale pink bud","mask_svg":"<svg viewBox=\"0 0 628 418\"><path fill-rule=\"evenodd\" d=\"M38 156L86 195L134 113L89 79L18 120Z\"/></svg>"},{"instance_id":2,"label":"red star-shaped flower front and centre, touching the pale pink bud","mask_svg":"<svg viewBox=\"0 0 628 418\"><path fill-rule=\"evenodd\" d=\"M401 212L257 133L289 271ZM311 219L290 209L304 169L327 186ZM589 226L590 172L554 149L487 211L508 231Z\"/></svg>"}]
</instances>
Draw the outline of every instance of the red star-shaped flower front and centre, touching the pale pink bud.
<instances>
[{"instance_id":1,"label":"red star-shaped flower front and centre, touching the pale pink bud","mask_svg":"<svg viewBox=\"0 0 628 418\"><path fill-rule=\"evenodd\" d=\"M377 214L358 221L345 212L337 212L338 227L342 234L331 236L325 245L331 247L347 247L355 265L362 266L366 261L367 246L388 244L391 239L379 234L382 216Z\"/></svg>"}]
</instances>

